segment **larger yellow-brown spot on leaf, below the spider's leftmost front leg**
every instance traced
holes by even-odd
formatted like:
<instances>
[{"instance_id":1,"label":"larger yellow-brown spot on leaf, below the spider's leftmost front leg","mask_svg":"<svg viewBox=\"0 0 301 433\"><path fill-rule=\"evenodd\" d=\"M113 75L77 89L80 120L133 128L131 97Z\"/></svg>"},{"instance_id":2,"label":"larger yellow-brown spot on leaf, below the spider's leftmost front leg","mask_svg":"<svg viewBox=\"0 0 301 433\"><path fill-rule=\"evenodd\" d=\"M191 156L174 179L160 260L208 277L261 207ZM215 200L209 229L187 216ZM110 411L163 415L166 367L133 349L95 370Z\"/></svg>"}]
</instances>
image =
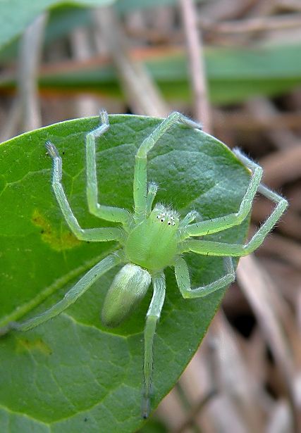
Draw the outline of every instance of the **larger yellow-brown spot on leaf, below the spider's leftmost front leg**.
<instances>
[{"instance_id":1,"label":"larger yellow-brown spot on leaf, below the spider's leftmost front leg","mask_svg":"<svg viewBox=\"0 0 301 433\"><path fill-rule=\"evenodd\" d=\"M37 209L33 211L32 222L41 229L40 233L42 241L49 244L51 248L56 251L72 249L75 246L80 245L80 240L78 240L73 233L61 233L57 229L54 229L49 220L47 220L47 218L45 218Z\"/></svg>"}]
</instances>

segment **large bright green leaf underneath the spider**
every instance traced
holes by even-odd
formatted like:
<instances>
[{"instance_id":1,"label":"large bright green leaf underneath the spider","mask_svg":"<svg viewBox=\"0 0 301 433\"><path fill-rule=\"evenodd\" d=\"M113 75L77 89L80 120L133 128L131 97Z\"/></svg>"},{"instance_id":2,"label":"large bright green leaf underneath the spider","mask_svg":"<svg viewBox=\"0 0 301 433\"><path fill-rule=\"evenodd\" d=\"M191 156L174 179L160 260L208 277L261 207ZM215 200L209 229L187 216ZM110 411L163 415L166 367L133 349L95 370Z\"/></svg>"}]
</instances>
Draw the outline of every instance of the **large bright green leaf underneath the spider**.
<instances>
[{"instance_id":1,"label":"large bright green leaf underneath the spider","mask_svg":"<svg viewBox=\"0 0 301 433\"><path fill-rule=\"evenodd\" d=\"M57 123L0 145L0 327L25 320L63 296L88 269L118 246L78 241L51 192L51 140L63 158L63 185L82 227L109 226L87 211L85 134L97 118ZM97 145L99 201L133 209L135 151L159 119L111 115ZM237 211L249 172L219 140L176 126L149 154L157 201L203 218ZM208 238L241 242L248 221ZM186 255L194 287L223 273L221 258ZM30 332L1 337L0 431L133 432L140 418L145 314L151 291L116 329L99 320L117 270L104 275L72 307ZM152 408L176 383L219 308L223 291L204 299L180 296L172 269L154 342Z\"/></svg>"}]
</instances>

